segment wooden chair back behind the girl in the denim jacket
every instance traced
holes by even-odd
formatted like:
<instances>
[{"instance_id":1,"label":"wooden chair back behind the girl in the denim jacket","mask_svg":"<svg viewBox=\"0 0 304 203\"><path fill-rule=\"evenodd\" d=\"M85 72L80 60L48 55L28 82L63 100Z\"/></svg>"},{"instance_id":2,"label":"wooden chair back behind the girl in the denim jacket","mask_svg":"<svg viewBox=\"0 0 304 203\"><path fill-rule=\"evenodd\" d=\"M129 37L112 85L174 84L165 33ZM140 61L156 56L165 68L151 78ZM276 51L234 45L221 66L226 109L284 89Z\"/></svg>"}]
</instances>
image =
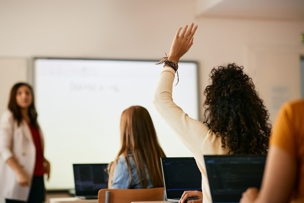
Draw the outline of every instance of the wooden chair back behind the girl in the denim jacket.
<instances>
[{"instance_id":1,"label":"wooden chair back behind the girl in the denim jacket","mask_svg":"<svg viewBox=\"0 0 304 203\"><path fill-rule=\"evenodd\" d=\"M131 203L132 201L163 201L164 187L149 189L101 189L98 203Z\"/></svg>"}]
</instances>

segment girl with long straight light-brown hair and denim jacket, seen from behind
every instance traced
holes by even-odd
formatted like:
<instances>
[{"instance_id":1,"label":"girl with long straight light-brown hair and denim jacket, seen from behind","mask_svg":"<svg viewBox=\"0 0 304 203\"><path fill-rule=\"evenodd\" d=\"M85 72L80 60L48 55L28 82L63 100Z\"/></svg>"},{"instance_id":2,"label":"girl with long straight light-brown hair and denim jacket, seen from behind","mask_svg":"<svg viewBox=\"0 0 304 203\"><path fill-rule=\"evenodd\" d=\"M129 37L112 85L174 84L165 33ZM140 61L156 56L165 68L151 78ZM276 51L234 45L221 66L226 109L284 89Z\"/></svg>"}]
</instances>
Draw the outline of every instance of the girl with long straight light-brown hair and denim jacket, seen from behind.
<instances>
[{"instance_id":1,"label":"girl with long straight light-brown hair and denim jacket, seen from behind","mask_svg":"<svg viewBox=\"0 0 304 203\"><path fill-rule=\"evenodd\" d=\"M121 148L109 164L109 188L140 189L164 187L161 157L150 114L141 106L127 108L120 120Z\"/></svg>"}]
</instances>

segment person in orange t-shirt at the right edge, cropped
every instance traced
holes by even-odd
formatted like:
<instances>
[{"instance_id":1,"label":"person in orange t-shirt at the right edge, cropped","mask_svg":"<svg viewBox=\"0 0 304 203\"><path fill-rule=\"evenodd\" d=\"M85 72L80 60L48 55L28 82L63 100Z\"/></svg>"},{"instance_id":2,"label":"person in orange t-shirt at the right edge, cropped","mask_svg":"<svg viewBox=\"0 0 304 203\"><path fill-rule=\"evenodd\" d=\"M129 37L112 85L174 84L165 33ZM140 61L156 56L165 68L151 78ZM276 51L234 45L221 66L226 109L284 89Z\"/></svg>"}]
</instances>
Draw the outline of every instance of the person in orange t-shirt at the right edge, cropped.
<instances>
[{"instance_id":1,"label":"person in orange t-shirt at the right edge, cropped","mask_svg":"<svg viewBox=\"0 0 304 203\"><path fill-rule=\"evenodd\" d=\"M304 202L304 100L281 107L269 145L261 190L248 188L240 202Z\"/></svg>"}]
</instances>

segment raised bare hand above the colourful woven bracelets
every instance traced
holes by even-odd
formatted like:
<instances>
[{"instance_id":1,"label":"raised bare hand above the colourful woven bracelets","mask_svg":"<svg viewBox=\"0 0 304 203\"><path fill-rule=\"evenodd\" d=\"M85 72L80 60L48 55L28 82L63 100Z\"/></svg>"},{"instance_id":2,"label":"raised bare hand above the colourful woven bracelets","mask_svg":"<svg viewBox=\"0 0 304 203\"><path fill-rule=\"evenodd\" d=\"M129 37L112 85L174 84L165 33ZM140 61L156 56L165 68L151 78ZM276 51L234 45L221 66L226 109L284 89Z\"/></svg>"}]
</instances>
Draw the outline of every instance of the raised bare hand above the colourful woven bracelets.
<instances>
[{"instance_id":1,"label":"raised bare hand above the colourful woven bracelets","mask_svg":"<svg viewBox=\"0 0 304 203\"><path fill-rule=\"evenodd\" d=\"M198 25L192 22L189 29L185 25L184 30L181 32L182 27L178 28L174 40L171 45L169 60L178 63L179 59L190 49L193 44L193 35ZM188 29L188 30L187 30ZM180 34L181 32L181 34Z\"/></svg>"}]
</instances>

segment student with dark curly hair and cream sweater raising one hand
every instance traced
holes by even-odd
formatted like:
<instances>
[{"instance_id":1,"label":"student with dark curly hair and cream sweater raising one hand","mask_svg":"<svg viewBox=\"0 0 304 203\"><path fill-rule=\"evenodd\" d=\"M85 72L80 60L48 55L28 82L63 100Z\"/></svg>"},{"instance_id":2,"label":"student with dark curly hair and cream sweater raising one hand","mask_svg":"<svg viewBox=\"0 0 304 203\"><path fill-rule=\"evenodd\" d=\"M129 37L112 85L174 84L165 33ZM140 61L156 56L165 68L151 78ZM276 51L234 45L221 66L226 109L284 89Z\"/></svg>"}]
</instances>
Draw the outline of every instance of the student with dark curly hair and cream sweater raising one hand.
<instances>
[{"instance_id":1,"label":"student with dark curly hair and cream sweater raising one hand","mask_svg":"<svg viewBox=\"0 0 304 203\"><path fill-rule=\"evenodd\" d=\"M172 86L177 64L192 46L197 25L191 23L187 28L188 25L181 33L182 28L178 29L168 57L160 61L164 62L164 69L153 103L181 142L193 153L202 172L202 192L185 191L181 202L193 196L199 200L188 203L212 202L203 155L266 154L271 124L268 110L258 96L252 79L243 72L242 66L234 63L212 69L211 84L204 92L204 122L192 119L173 102Z\"/></svg>"}]
</instances>

